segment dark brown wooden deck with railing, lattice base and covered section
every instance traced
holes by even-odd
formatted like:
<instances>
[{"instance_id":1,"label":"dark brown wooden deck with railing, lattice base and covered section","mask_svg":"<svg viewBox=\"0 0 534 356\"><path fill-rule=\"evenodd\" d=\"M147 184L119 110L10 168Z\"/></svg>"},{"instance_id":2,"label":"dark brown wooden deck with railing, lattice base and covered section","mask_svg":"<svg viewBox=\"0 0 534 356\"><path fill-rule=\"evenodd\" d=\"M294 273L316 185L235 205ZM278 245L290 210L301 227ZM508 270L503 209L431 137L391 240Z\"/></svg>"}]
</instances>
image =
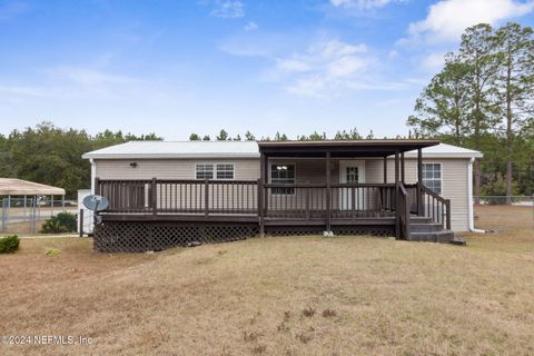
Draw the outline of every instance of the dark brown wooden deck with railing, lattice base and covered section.
<instances>
[{"instance_id":1,"label":"dark brown wooden deck with railing, lattice base and covered section","mask_svg":"<svg viewBox=\"0 0 534 356\"><path fill-rule=\"evenodd\" d=\"M411 228L416 218L444 229L451 227L449 201L422 184L422 148L437 145L437 141L258 145L260 175L257 180L96 178L95 194L107 197L110 202L109 209L99 214L102 224L95 233L98 249L146 250L192 240L222 241L257 235L325 231L328 235L370 234L409 239L415 234ZM404 152L414 149L417 149L418 182L406 185ZM387 157L390 156L395 157L395 184L387 179ZM324 182L269 182L269 159L277 157L324 158ZM382 157L383 184L333 181L332 159L354 157ZM434 227L428 226L431 228Z\"/></svg>"}]
</instances>

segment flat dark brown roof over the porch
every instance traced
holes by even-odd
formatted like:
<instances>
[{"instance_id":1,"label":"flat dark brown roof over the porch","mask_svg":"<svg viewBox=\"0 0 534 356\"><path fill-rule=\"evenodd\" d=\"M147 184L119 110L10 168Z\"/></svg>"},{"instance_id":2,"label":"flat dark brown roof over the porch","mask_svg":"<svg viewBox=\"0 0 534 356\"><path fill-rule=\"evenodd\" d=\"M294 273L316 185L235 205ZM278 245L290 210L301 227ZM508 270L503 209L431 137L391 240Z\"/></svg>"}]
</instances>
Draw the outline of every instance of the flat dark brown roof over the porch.
<instances>
[{"instance_id":1,"label":"flat dark brown roof over the porch","mask_svg":"<svg viewBox=\"0 0 534 356\"><path fill-rule=\"evenodd\" d=\"M260 154L268 157L387 157L439 145L437 140L421 139L372 139L372 140L324 140L324 141L260 141Z\"/></svg>"}]
</instances>

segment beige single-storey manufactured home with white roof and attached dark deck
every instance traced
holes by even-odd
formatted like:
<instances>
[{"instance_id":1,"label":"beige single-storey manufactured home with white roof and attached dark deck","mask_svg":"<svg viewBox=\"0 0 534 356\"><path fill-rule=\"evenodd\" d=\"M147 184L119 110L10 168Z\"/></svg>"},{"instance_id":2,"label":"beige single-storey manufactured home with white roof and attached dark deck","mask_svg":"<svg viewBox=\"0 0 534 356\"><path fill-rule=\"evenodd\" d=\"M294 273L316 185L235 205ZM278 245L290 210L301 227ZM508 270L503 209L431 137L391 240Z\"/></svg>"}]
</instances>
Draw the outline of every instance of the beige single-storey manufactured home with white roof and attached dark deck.
<instances>
[{"instance_id":1,"label":"beige single-storey manufactured home with white roof and attached dark deck","mask_svg":"<svg viewBox=\"0 0 534 356\"><path fill-rule=\"evenodd\" d=\"M271 235L458 243L478 151L419 139L131 141L83 155L109 200L98 250Z\"/></svg>"}]
</instances>

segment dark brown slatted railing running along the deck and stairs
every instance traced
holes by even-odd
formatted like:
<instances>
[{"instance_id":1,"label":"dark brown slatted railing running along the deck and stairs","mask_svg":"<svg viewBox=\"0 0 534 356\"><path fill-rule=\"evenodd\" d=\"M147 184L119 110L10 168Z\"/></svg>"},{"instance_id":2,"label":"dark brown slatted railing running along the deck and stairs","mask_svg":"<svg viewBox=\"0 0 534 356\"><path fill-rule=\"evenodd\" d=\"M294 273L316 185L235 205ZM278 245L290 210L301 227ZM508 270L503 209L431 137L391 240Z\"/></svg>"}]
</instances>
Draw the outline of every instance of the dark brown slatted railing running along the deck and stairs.
<instances>
[{"instance_id":1,"label":"dark brown slatted railing running along the deck and stairs","mask_svg":"<svg viewBox=\"0 0 534 356\"><path fill-rule=\"evenodd\" d=\"M95 184L96 194L109 200L107 212L305 220L397 217L408 228L409 216L419 215L451 228L451 201L423 185L333 184L328 195L326 184L261 185L259 180L97 178Z\"/></svg>"}]
</instances>

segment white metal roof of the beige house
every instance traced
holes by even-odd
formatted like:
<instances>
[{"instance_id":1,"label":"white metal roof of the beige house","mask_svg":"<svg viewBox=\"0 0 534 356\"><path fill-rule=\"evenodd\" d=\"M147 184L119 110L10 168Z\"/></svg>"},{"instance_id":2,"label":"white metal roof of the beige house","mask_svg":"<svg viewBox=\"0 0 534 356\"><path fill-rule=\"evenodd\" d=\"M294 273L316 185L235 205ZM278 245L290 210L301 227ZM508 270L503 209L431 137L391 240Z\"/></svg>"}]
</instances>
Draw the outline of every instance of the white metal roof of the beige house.
<instances>
[{"instance_id":1,"label":"white metal roof of the beige house","mask_svg":"<svg viewBox=\"0 0 534 356\"><path fill-rule=\"evenodd\" d=\"M274 147L279 141L259 142L261 147ZM411 146L423 148L424 158L481 158L475 150L438 144L434 140L358 140L358 141L284 141L294 147L369 147L398 145L402 142L406 157L415 157ZM432 146L435 145L435 146ZM160 158L257 158L259 146L256 141L129 141L85 154L83 158L93 159L160 159ZM429 147L428 147L429 146Z\"/></svg>"}]
</instances>

